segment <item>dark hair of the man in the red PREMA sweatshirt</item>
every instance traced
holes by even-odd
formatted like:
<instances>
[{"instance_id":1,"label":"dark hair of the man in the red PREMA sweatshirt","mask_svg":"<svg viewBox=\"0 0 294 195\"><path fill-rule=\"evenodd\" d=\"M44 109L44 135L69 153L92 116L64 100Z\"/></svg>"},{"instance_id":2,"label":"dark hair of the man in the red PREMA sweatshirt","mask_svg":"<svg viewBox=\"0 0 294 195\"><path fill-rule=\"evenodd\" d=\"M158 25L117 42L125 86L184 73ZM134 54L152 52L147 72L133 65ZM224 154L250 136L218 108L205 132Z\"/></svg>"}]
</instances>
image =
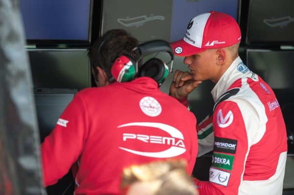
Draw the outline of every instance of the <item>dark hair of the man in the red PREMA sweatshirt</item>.
<instances>
[{"instance_id":1,"label":"dark hair of the man in the red PREMA sweatshirt","mask_svg":"<svg viewBox=\"0 0 294 195\"><path fill-rule=\"evenodd\" d=\"M99 56L98 56L98 48L100 44L103 42L105 35L108 32L113 32L113 37L103 43L100 48ZM112 29L105 32L102 37L100 37L89 49L88 56L90 58L90 64L94 69L95 77L97 76L97 66L101 67L98 63L98 57L100 63L110 72L110 69L114 63L114 61L124 55L129 55L133 60L137 60L139 58L139 53L137 50L132 51L133 48L138 46L139 42L136 38L134 38L129 32L123 29Z\"/></svg>"}]
</instances>

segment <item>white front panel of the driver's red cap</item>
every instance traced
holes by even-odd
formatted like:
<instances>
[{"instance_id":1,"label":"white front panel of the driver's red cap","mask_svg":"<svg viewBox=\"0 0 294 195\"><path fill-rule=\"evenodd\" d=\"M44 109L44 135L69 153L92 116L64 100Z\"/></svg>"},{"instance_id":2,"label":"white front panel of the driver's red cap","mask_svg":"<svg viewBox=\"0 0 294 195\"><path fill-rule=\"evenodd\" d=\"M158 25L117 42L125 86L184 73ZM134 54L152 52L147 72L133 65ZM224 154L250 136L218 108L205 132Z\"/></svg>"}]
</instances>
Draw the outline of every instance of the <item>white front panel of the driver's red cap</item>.
<instances>
[{"instance_id":1,"label":"white front panel of the driver's red cap","mask_svg":"<svg viewBox=\"0 0 294 195\"><path fill-rule=\"evenodd\" d=\"M204 13L196 16L194 19L192 19L191 22L193 22L190 29L187 28L184 41L192 44L193 46L200 47L202 45L202 38L203 38L203 32L205 28L205 24L210 16L210 13ZM191 23L190 22L190 23ZM189 25L190 25L189 23ZM188 26L189 26L188 25Z\"/></svg>"}]
</instances>

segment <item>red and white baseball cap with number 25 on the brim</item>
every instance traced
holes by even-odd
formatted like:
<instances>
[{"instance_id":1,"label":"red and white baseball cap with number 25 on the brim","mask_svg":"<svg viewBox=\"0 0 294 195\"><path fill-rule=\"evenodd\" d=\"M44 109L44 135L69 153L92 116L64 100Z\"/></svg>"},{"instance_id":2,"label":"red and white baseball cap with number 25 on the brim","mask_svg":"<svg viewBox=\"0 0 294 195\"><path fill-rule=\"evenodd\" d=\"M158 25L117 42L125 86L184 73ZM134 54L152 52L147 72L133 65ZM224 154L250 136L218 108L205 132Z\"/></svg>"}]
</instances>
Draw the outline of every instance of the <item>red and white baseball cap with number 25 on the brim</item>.
<instances>
[{"instance_id":1,"label":"red and white baseball cap with number 25 on the brim","mask_svg":"<svg viewBox=\"0 0 294 195\"><path fill-rule=\"evenodd\" d=\"M241 30L233 17L207 12L193 18L185 37L171 43L174 55L191 56L206 49L228 47L241 41Z\"/></svg>"}]
</instances>

